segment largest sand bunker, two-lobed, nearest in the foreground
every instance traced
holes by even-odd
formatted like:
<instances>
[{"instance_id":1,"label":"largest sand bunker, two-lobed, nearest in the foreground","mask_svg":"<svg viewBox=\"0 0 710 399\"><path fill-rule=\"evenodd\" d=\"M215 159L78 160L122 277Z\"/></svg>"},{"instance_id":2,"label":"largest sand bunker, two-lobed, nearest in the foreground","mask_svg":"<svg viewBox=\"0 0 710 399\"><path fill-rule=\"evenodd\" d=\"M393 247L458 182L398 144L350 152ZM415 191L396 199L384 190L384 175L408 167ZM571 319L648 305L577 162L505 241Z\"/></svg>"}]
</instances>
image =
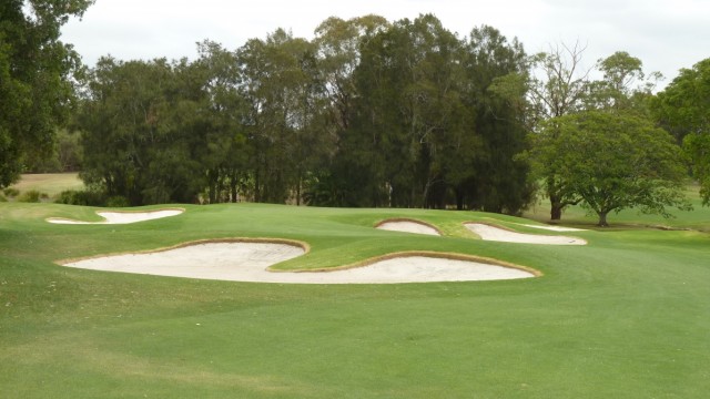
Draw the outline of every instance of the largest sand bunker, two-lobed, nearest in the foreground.
<instances>
[{"instance_id":1,"label":"largest sand bunker, two-lobed, nearest in the foreground","mask_svg":"<svg viewBox=\"0 0 710 399\"><path fill-rule=\"evenodd\" d=\"M273 264L303 255L301 246L272 243L203 243L154 253L113 255L63 266L159 276L253 283L396 284L528 278L536 275L485 263L403 255L367 266L329 272L270 272Z\"/></svg>"}]
</instances>

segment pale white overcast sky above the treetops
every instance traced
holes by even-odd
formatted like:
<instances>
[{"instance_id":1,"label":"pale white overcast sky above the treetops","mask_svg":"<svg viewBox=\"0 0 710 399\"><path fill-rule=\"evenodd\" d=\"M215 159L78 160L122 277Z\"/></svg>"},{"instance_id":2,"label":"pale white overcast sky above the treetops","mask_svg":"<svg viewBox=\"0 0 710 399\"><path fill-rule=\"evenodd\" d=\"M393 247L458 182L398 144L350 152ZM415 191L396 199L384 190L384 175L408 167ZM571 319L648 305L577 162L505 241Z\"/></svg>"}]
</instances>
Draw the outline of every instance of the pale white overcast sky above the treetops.
<instances>
[{"instance_id":1,"label":"pale white overcast sky above the treetops","mask_svg":"<svg viewBox=\"0 0 710 399\"><path fill-rule=\"evenodd\" d=\"M528 53L550 44L579 42L592 66L616 51L659 71L669 83L681 68L710 58L709 0L97 0L82 20L63 28L84 63L116 59L179 59L196 55L210 39L234 50L277 28L313 38L326 18L375 13L387 20L433 13L459 37L481 24L517 37Z\"/></svg>"}]
</instances>

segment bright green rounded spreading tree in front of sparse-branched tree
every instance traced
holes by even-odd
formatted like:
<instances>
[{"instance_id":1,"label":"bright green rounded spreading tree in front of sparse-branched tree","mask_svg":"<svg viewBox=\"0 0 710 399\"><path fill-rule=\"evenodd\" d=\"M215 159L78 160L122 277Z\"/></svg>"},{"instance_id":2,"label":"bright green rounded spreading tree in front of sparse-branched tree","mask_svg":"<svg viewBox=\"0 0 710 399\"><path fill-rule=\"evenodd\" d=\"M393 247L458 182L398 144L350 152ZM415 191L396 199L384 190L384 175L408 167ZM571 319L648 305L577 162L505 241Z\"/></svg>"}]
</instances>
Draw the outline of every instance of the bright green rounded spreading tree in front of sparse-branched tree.
<instances>
[{"instance_id":1,"label":"bright green rounded spreading tree in front of sparse-branched tree","mask_svg":"<svg viewBox=\"0 0 710 399\"><path fill-rule=\"evenodd\" d=\"M556 154L547 161L565 171L567 190L599 216L599 226L608 226L610 212L626 208L668 217L667 206L690 207L680 149L648 120L585 111L548 121L540 137L538 149Z\"/></svg>"}]
</instances>

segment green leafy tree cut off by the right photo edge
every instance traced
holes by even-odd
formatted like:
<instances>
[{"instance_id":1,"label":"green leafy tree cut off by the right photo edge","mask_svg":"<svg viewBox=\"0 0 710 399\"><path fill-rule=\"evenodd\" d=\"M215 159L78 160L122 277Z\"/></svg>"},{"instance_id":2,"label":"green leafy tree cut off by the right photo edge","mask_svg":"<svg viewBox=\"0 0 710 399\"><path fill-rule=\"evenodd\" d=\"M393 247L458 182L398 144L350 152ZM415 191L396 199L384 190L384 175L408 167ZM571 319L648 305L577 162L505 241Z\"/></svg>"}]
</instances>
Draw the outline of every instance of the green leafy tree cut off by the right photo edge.
<instances>
[{"instance_id":1,"label":"green leafy tree cut off by the right photo edge","mask_svg":"<svg viewBox=\"0 0 710 399\"><path fill-rule=\"evenodd\" d=\"M700 181L703 205L710 205L710 59L683 69L651 101L651 111L661 126L683 143Z\"/></svg>"}]
</instances>

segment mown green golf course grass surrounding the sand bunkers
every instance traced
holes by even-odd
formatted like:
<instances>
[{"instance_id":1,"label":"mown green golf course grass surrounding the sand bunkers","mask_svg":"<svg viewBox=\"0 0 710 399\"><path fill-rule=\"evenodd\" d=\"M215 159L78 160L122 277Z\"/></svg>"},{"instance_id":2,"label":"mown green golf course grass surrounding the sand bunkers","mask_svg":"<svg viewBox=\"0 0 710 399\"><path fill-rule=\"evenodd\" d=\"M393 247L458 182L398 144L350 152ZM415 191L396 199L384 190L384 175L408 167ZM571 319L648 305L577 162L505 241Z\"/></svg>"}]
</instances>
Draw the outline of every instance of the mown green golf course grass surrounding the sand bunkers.
<instances>
[{"instance_id":1,"label":"mown green golf course grass surrounding the sand bunkers","mask_svg":"<svg viewBox=\"0 0 710 399\"><path fill-rule=\"evenodd\" d=\"M610 229L576 234L586 247L552 247L475 239L462 222L521 222L479 213L186 208L134 225L60 226L43 218L92 209L0 204L0 397L701 398L710 389L707 234ZM448 236L371 227L392 216ZM52 263L244 236L312 246L284 268L432 249L545 276L300 286Z\"/></svg>"}]
</instances>

